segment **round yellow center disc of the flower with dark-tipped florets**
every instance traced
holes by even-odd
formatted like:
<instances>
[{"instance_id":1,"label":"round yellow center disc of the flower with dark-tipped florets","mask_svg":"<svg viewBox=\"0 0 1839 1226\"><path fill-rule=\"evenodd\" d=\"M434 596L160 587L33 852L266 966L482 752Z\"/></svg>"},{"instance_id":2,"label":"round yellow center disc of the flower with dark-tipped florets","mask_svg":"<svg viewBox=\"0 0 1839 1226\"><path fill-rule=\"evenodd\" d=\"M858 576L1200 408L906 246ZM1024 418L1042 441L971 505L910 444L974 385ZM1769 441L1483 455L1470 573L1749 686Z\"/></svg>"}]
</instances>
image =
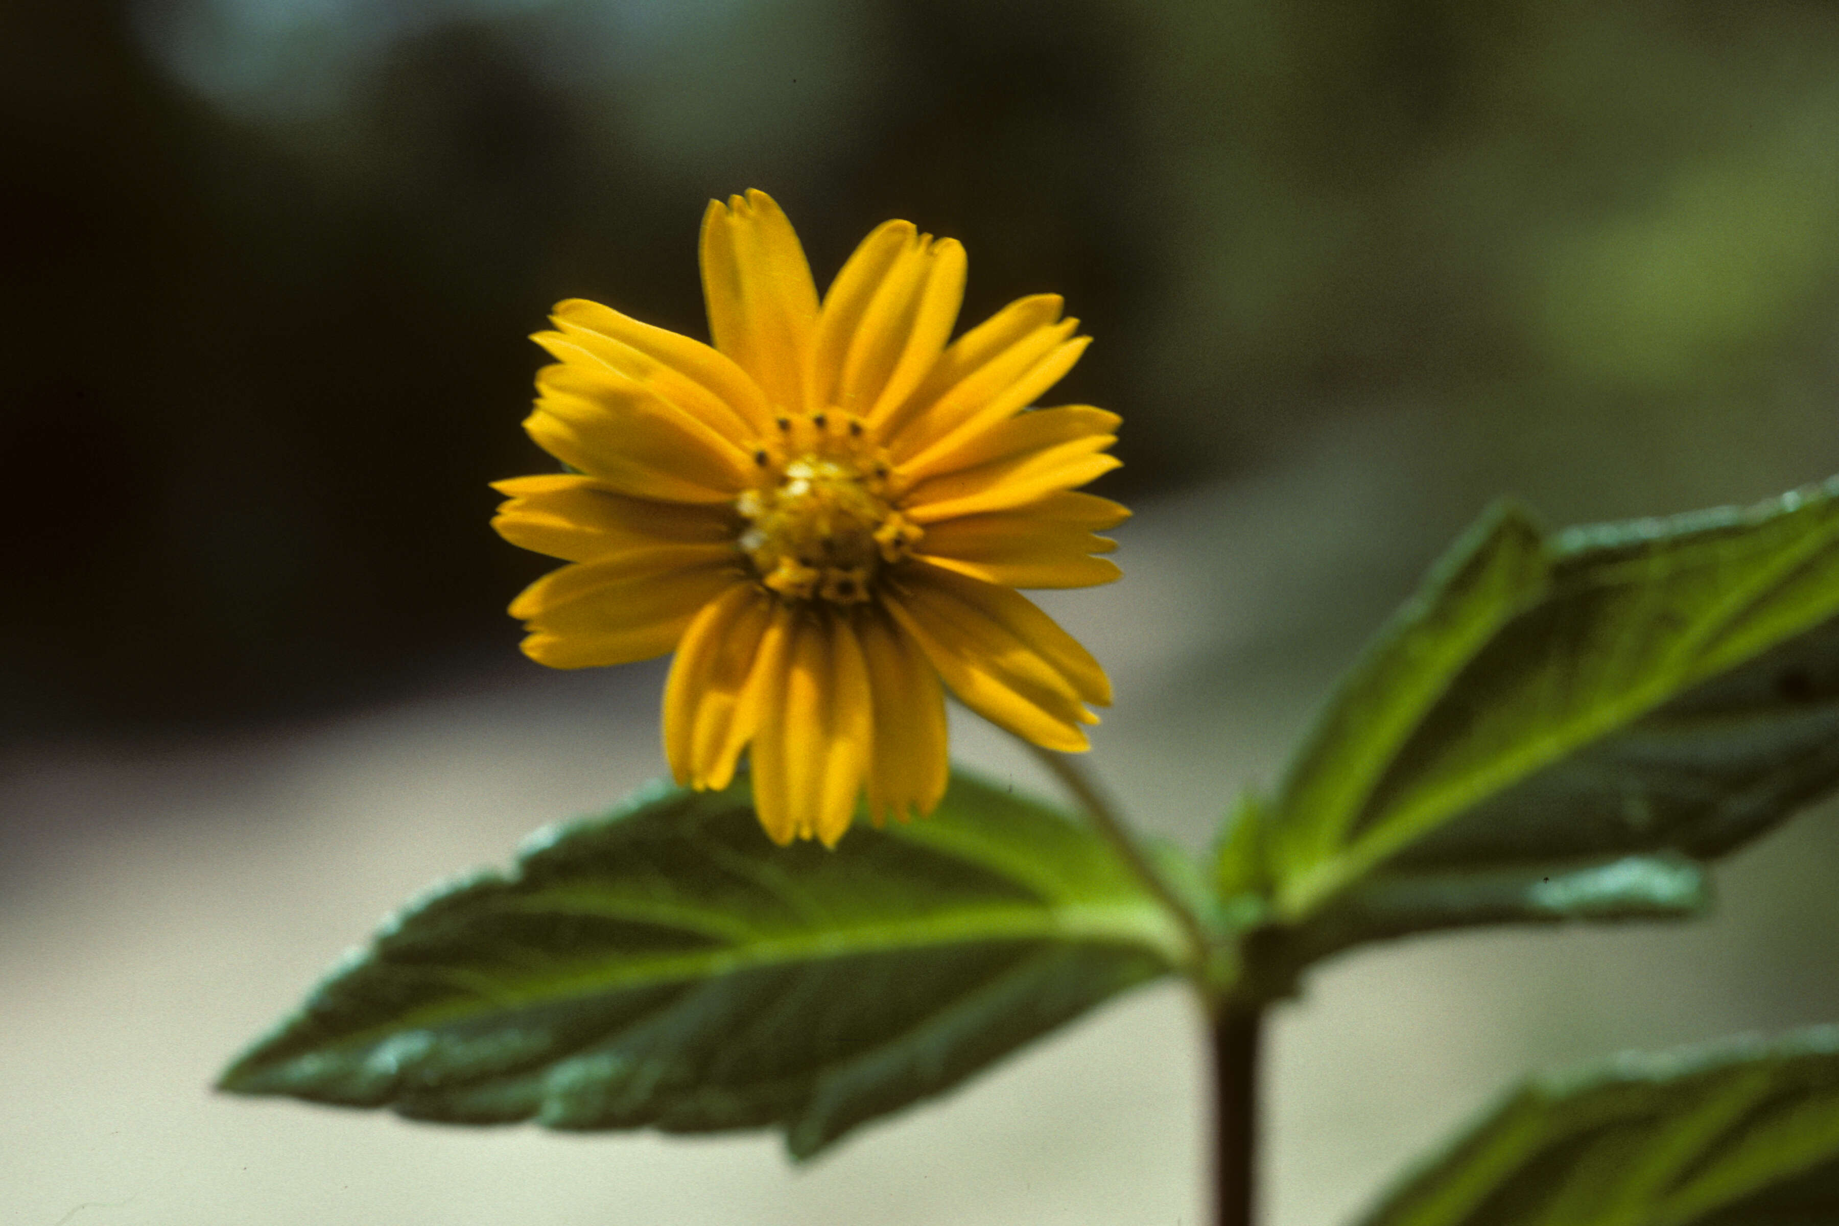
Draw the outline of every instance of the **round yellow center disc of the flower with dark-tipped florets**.
<instances>
[{"instance_id":1,"label":"round yellow center disc of the flower with dark-tipped florets","mask_svg":"<svg viewBox=\"0 0 1839 1226\"><path fill-rule=\"evenodd\" d=\"M780 417L754 450L760 483L736 500L741 550L785 599L855 605L920 529L894 509L888 461L861 419L835 410Z\"/></svg>"}]
</instances>

